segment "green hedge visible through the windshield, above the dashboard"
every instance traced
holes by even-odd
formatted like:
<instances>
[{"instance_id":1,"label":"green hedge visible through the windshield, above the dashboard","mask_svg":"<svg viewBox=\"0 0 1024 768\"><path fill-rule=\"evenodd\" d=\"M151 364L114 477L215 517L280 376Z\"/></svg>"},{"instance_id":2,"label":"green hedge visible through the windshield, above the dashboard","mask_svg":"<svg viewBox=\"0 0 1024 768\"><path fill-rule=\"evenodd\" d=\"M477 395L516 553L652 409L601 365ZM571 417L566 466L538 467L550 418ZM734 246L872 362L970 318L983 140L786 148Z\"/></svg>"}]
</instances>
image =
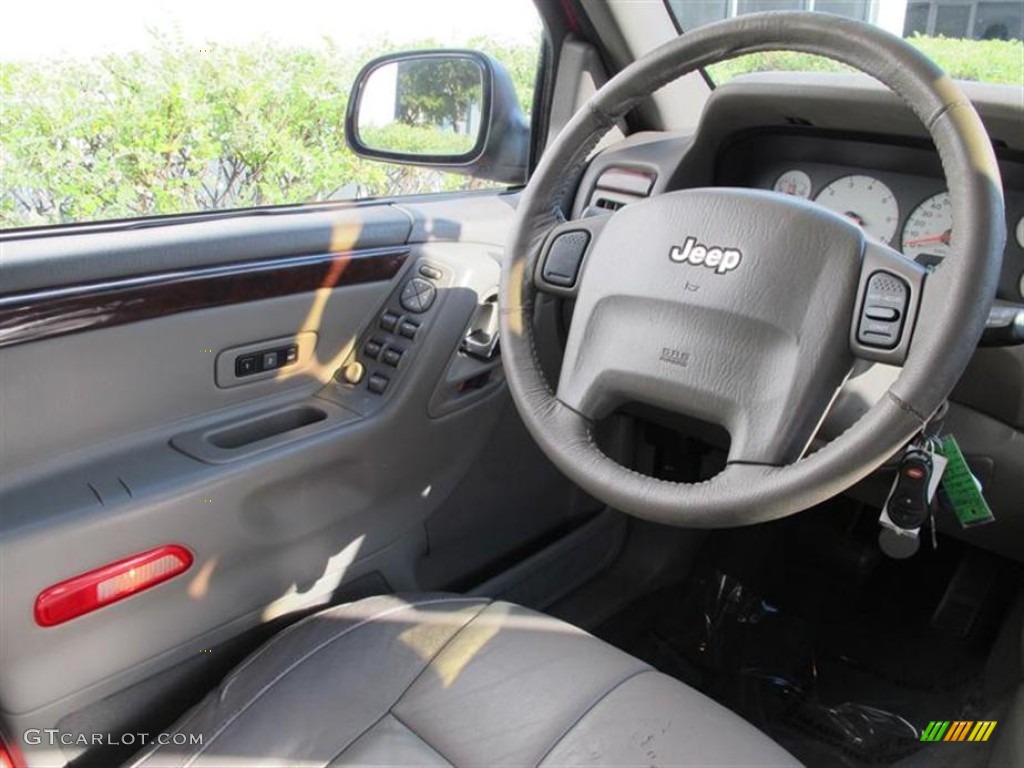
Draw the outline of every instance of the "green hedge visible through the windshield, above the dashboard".
<instances>
[{"instance_id":1,"label":"green hedge visible through the windshield, above the dashboard","mask_svg":"<svg viewBox=\"0 0 1024 768\"><path fill-rule=\"evenodd\" d=\"M1020 40L961 40L916 36L912 45L927 53L955 80L978 80L1024 87L1024 42ZM710 67L715 83L751 72L852 72L829 58L793 51L751 53Z\"/></svg>"}]
</instances>

